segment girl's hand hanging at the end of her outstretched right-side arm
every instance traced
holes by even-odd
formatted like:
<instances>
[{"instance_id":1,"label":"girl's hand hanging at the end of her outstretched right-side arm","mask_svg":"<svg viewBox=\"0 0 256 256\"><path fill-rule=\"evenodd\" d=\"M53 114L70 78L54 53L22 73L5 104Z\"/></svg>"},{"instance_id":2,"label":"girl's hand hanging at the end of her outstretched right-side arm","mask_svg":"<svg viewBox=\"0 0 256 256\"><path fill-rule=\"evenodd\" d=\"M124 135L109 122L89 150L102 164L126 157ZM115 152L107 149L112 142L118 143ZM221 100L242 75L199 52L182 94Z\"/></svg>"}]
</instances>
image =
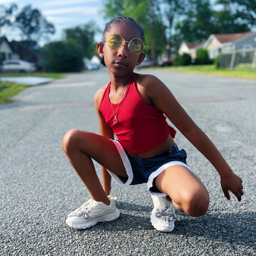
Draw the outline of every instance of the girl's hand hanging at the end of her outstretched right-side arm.
<instances>
[{"instance_id":1,"label":"girl's hand hanging at the end of her outstretched right-side arm","mask_svg":"<svg viewBox=\"0 0 256 256\"><path fill-rule=\"evenodd\" d=\"M244 191L242 191L242 180L236 174L231 172L224 177L220 177L220 184L222 185L222 191L225 194L226 198L230 200L229 190L238 198L238 201L241 201Z\"/></svg>"}]
</instances>

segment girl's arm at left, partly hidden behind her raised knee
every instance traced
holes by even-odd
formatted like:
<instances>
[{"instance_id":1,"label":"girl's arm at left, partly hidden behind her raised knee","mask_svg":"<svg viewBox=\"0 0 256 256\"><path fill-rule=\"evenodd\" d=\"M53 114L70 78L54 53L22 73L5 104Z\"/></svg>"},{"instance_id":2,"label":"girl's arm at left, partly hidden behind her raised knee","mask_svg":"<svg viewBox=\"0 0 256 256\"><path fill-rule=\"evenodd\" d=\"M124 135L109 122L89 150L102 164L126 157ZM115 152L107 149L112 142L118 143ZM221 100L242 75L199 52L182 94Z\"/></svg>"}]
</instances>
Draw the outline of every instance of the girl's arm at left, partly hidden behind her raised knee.
<instances>
[{"instance_id":1,"label":"girl's arm at left, partly hidden behind her raised knee","mask_svg":"<svg viewBox=\"0 0 256 256\"><path fill-rule=\"evenodd\" d=\"M102 98L102 94L104 92L105 87L98 90L94 97L94 105L98 116L98 124L100 128L100 135L107 138L114 139L113 130L106 124L105 119L100 112L100 100ZM108 196L111 191L111 175L106 170L105 167L102 166L102 183L103 183L103 190L105 191L106 195Z\"/></svg>"}]
</instances>

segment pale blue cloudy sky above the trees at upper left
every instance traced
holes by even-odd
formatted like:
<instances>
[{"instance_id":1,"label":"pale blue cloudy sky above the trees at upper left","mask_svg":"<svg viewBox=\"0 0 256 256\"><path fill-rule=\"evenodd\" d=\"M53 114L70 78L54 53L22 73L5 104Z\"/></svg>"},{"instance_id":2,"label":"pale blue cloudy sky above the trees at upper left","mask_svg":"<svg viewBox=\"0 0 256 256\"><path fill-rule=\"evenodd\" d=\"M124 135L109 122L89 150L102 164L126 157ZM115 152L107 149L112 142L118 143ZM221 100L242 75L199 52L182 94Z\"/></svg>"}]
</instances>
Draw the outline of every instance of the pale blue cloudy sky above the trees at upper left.
<instances>
[{"instance_id":1,"label":"pale blue cloudy sky above the trees at upper left","mask_svg":"<svg viewBox=\"0 0 256 256\"><path fill-rule=\"evenodd\" d=\"M55 26L55 35L51 40L62 39L62 31L65 28L83 25L90 21L95 22L102 30L105 26L103 14L100 13L103 7L103 0L0 0L0 4L9 6L15 3L18 10L31 4L33 9L39 9L46 20ZM16 31L4 31L9 40L18 39ZM2 31L1 31L2 35ZM97 41L101 35L96 35Z\"/></svg>"}]
</instances>

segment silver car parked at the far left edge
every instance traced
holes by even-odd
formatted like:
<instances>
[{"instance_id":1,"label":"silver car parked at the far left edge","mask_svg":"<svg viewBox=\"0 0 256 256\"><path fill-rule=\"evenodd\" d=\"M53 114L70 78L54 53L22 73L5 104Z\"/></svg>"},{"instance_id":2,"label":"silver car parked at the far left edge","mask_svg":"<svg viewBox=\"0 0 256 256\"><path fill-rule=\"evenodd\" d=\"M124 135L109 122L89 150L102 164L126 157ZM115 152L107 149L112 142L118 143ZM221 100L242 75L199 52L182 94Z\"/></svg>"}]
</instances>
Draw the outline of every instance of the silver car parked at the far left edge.
<instances>
[{"instance_id":1,"label":"silver car parked at the far left edge","mask_svg":"<svg viewBox=\"0 0 256 256\"><path fill-rule=\"evenodd\" d=\"M36 70L33 63L25 60L4 60L2 62L2 72L31 73Z\"/></svg>"}]
</instances>

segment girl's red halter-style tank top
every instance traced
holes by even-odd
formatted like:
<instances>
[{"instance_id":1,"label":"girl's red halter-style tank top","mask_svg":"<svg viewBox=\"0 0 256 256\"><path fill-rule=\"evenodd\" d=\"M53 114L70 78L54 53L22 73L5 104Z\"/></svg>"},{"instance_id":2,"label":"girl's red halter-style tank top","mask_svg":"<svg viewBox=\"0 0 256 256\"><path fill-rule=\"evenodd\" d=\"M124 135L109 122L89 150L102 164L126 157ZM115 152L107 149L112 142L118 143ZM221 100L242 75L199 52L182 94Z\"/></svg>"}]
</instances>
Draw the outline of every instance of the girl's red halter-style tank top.
<instances>
[{"instance_id":1,"label":"girl's red halter-style tank top","mask_svg":"<svg viewBox=\"0 0 256 256\"><path fill-rule=\"evenodd\" d=\"M113 122L114 114L109 98L111 82L103 93L100 111L122 146L128 152L138 154L161 145L169 134L175 137L176 131L168 126L166 116L161 111L143 100L134 79L135 73L130 78L121 102L112 104L114 113L119 105L116 124Z\"/></svg>"}]
</instances>

